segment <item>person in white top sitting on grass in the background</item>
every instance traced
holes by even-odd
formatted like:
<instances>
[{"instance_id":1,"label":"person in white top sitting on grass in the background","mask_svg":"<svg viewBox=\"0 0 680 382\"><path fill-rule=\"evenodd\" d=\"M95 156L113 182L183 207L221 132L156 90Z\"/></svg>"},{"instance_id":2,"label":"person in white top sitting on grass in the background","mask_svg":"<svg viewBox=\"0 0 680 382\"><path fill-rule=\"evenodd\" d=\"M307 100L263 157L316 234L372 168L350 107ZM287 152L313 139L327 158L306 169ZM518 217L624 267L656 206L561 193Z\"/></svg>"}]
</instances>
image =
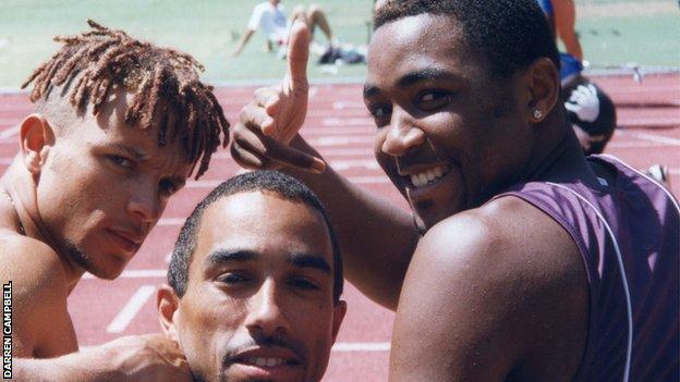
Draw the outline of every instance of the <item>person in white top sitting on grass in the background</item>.
<instances>
[{"instance_id":1,"label":"person in white top sitting on grass in the background","mask_svg":"<svg viewBox=\"0 0 680 382\"><path fill-rule=\"evenodd\" d=\"M330 25L328 24L326 13L324 13L324 10L318 5L311 4L308 8L298 5L293 10L293 16L288 20L280 0L267 0L255 5L253 9L251 20L232 56L239 56L255 30L260 27L267 35L267 51L271 50L271 44L274 42L279 48L283 48L279 49L279 52L284 53L290 27L296 20L304 22L309 30L312 30L312 34L314 34L314 29L318 26L326 35L326 38L328 38L328 44L332 45L333 36L330 30Z\"/></svg>"}]
</instances>

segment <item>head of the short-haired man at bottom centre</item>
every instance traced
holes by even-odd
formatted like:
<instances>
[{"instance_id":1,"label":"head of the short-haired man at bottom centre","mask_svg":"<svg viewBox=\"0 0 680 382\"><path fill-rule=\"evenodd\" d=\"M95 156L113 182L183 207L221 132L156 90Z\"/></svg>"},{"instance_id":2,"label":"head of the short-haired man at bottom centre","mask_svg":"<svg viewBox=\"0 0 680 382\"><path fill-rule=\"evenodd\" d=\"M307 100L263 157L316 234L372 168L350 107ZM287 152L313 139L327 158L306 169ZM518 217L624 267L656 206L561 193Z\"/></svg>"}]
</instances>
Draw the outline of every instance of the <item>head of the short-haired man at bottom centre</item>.
<instances>
[{"instance_id":1,"label":"head of the short-haired man at bottom centre","mask_svg":"<svg viewBox=\"0 0 680 382\"><path fill-rule=\"evenodd\" d=\"M158 292L165 332L196 381L319 381L347 305L340 249L317 197L260 171L189 217Z\"/></svg>"}]
</instances>

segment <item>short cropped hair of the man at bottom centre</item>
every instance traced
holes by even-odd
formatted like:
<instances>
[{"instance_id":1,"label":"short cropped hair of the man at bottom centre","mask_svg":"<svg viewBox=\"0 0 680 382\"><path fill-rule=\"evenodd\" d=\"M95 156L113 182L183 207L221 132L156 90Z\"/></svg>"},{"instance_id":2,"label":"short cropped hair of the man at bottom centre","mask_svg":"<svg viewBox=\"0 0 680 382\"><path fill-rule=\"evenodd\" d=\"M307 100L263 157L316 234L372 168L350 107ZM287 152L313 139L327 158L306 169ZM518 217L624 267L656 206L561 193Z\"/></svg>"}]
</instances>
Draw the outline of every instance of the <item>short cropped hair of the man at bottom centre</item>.
<instances>
[{"instance_id":1,"label":"short cropped hair of the man at bottom centre","mask_svg":"<svg viewBox=\"0 0 680 382\"><path fill-rule=\"evenodd\" d=\"M186 292L189 266L196 249L197 235L205 210L215 201L230 195L248 192L269 192L289 200L299 201L316 209L326 223L333 257L333 301L338 304L342 295L342 257L336 233L318 197L299 180L277 171L253 171L234 176L215 188L196 206L180 231L168 267L168 283L179 297Z\"/></svg>"}]
</instances>

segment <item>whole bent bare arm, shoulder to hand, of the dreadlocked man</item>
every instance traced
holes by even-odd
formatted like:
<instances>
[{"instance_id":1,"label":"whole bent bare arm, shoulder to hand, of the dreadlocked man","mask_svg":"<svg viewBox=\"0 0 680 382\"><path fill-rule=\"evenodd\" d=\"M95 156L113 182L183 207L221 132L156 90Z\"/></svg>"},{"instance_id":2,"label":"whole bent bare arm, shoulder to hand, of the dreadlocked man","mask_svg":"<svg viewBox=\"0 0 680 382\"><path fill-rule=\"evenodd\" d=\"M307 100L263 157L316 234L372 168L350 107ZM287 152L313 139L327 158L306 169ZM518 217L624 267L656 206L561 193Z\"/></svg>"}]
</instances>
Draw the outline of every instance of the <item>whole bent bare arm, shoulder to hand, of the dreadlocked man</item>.
<instances>
[{"instance_id":1,"label":"whole bent bare arm, shoulder to hand, of the dreadlocked man","mask_svg":"<svg viewBox=\"0 0 680 382\"><path fill-rule=\"evenodd\" d=\"M160 334L74 353L66 279L57 254L35 239L10 235L0 239L0 280L12 281L15 381L191 381L184 355Z\"/></svg>"}]
</instances>

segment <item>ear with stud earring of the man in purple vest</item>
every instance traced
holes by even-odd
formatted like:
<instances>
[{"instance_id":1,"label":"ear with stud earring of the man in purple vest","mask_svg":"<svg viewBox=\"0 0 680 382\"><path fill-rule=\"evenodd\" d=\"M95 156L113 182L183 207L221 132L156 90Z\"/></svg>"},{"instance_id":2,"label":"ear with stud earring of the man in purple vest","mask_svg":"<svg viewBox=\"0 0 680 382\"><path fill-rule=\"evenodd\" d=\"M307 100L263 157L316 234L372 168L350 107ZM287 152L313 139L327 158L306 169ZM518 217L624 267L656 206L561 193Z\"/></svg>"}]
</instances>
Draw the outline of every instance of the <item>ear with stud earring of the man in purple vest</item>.
<instances>
[{"instance_id":1,"label":"ear with stud earring of the man in purple vest","mask_svg":"<svg viewBox=\"0 0 680 382\"><path fill-rule=\"evenodd\" d=\"M557 67L548 58L535 60L526 71L529 100L526 102L530 124L543 121L559 99L560 82Z\"/></svg>"}]
</instances>

